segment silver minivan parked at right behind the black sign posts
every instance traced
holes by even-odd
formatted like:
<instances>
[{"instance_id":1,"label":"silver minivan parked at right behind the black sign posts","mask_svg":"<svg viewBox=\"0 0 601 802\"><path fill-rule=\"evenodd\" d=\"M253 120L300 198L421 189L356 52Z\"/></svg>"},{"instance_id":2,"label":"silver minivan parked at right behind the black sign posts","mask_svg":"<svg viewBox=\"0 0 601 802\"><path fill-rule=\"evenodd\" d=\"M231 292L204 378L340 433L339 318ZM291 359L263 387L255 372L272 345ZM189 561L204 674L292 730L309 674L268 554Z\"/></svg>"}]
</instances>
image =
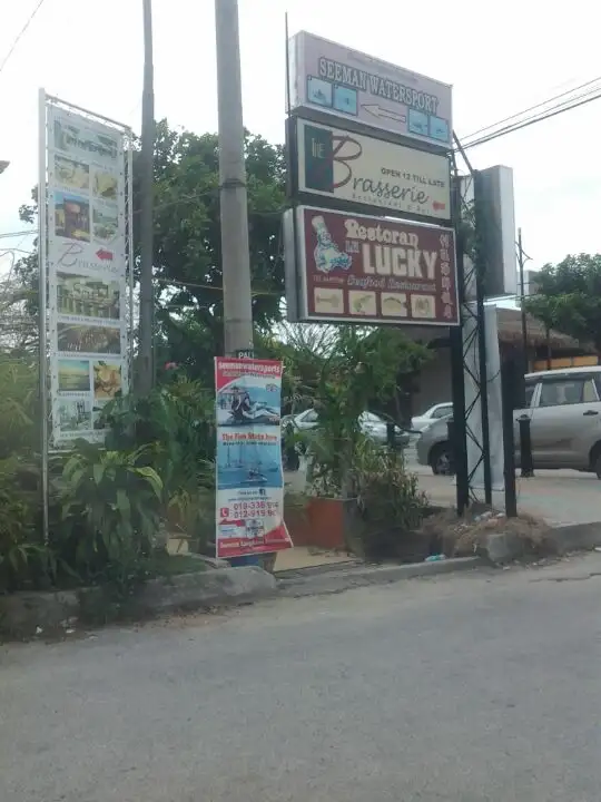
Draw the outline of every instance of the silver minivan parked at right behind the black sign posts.
<instances>
[{"instance_id":1,"label":"silver minivan parked at right behind the black sign posts","mask_svg":"<svg viewBox=\"0 0 601 802\"><path fill-rule=\"evenodd\" d=\"M601 366L528 373L526 407L513 412L515 462L520 464L520 420L530 420L534 469L572 468L601 479ZM426 427L417 461L434 473L454 472L449 442L452 415Z\"/></svg>"}]
</instances>

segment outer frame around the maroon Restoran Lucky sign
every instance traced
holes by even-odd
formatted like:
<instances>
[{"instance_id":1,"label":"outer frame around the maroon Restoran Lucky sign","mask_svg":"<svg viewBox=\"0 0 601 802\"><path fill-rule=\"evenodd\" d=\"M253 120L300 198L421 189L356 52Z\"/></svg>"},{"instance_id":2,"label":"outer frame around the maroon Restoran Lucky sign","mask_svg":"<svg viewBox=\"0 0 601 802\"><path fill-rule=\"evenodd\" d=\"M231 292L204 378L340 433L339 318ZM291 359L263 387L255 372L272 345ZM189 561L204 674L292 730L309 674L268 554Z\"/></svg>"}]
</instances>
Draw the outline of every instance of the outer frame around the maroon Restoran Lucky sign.
<instances>
[{"instance_id":1,"label":"outer frame around the maroon Restoran Lucky sign","mask_svg":"<svg viewBox=\"0 0 601 802\"><path fill-rule=\"evenodd\" d=\"M424 317L397 316L386 317L384 315L348 315L348 314L316 314L309 311L308 292L309 282L307 273L307 245L306 245L306 225L305 212L319 215L345 216L347 218L359 217L367 221L374 221L376 225L410 226L423 228L424 231L435 232L449 235L450 257L450 276L452 277L453 287L453 306L454 315L447 320L431 320ZM455 251L455 231L452 226L440 226L415 221L406 221L392 217L382 217L375 215L355 214L353 212L344 212L341 209L332 209L317 207L313 205L296 206L288 209L284 218L284 247L286 264L286 301L288 304L288 320L296 320L303 323L353 323L355 325L395 325L395 326L420 326L434 329L450 329L461 325L460 319L460 301L457 285L457 264ZM413 291L417 292L417 291Z\"/></svg>"}]
</instances>

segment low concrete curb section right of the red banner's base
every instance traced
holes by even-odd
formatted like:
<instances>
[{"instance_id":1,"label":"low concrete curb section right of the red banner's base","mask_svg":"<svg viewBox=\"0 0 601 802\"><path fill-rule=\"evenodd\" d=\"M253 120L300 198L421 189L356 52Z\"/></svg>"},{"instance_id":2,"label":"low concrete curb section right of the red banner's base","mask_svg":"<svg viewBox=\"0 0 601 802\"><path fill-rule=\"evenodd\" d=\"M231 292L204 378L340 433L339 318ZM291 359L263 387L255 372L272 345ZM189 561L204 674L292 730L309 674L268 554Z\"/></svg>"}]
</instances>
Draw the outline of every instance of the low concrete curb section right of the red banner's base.
<instances>
[{"instance_id":1,"label":"low concrete curb section right of the red banner's base","mask_svg":"<svg viewBox=\"0 0 601 802\"><path fill-rule=\"evenodd\" d=\"M280 596L300 597L335 594L367 585L388 585L401 579L431 577L460 570L472 570L484 565L480 557L460 557L436 560L434 563L412 563L410 565L365 566L338 569L311 576L296 576L279 579Z\"/></svg>"}]
</instances>

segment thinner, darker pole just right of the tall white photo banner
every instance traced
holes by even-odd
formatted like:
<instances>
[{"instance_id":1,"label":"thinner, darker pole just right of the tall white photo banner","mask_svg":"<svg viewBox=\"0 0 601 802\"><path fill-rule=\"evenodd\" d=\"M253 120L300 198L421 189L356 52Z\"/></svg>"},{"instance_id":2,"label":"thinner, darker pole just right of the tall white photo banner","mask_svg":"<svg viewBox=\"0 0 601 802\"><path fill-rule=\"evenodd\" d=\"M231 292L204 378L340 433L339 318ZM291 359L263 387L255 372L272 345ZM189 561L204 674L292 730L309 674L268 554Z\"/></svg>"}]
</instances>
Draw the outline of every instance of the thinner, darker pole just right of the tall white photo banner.
<instances>
[{"instance_id":1,"label":"thinner, darker pole just right of the tall white photo banner","mask_svg":"<svg viewBox=\"0 0 601 802\"><path fill-rule=\"evenodd\" d=\"M155 329L155 295L152 291L154 255L154 157L155 157L155 88L152 63L152 4L144 3L144 89L140 149L140 369L141 394L150 392L155 384L152 339Z\"/></svg>"}]
</instances>

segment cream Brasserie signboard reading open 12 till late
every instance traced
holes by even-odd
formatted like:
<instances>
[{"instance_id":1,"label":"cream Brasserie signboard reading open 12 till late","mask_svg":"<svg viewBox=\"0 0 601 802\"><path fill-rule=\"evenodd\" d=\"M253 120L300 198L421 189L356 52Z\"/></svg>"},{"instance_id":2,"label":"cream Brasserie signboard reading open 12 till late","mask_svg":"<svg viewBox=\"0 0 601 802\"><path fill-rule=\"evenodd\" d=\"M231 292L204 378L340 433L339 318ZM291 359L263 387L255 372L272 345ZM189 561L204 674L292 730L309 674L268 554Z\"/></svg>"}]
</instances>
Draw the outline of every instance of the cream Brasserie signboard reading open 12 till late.
<instances>
[{"instance_id":1,"label":"cream Brasserie signboard reading open 12 till late","mask_svg":"<svg viewBox=\"0 0 601 802\"><path fill-rule=\"evenodd\" d=\"M446 155L296 120L298 190L384 209L451 218Z\"/></svg>"}]
</instances>

